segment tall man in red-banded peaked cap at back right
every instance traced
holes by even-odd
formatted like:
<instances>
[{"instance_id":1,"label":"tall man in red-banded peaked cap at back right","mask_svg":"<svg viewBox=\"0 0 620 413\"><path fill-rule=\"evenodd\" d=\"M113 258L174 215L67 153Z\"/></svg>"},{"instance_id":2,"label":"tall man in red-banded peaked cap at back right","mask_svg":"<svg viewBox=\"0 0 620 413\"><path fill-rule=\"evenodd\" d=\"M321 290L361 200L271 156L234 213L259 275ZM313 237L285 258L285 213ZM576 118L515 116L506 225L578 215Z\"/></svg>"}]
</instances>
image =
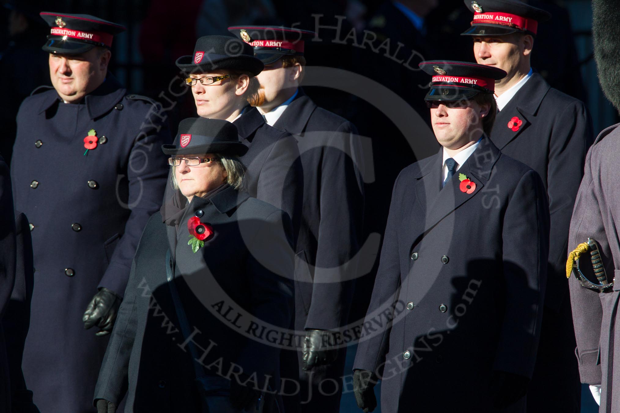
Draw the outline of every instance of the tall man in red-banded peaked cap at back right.
<instances>
[{"instance_id":1,"label":"tall man in red-banded peaked cap at back right","mask_svg":"<svg viewBox=\"0 0 620 413\"><path fill-rule=\"evenodd\" d=\"M495 84L499 113L490 139L504 154L538 172L549 196L549 277L528 411L578 412L581 389L563 274L575 183L583 176L592 141L590 115L582 102L552 89L530 66L538 25L549 13L517 0L465 4L474 17L463 35L474 41L477 63L508 73Z\"/></svg>"}]
</instances>

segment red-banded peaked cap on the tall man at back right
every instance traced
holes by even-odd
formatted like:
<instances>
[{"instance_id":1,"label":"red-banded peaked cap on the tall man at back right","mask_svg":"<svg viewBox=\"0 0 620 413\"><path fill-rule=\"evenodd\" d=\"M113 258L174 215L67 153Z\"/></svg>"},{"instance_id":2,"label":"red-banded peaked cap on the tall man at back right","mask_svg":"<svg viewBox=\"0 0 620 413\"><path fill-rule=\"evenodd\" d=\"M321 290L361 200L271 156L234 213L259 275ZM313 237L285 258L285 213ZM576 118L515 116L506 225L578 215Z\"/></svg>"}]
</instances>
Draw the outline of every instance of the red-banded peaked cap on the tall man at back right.
<instances>
[{"instance_id":1,"label":"red-banded peaked cap on the tall man at back right","mask_svg":"<svg viewBox=\"0 0 620 413\"><path fill-rule=\"evenodd\" d=\"M538 23L551 14L518 0L464 0L474 13L471 27L462 36L500 36L510 33L536 35Z\"/></svg>"}]
</instances>

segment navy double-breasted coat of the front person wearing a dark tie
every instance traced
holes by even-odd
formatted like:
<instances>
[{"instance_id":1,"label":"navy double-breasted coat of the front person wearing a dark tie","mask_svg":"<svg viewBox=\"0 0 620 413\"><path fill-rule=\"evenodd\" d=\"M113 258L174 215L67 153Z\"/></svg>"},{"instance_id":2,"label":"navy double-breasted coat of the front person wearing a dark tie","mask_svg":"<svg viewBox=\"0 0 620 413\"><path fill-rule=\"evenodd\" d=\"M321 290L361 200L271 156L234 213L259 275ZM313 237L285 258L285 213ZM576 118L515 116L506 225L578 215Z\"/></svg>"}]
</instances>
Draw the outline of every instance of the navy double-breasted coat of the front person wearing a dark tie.
<instances>
[{"instance_id":1,"label":"navy double-breasted coat of the front person wearing a dark tie","mask_svg":"<svg viewBox=\"0 0 620 413\"><path fill-rule=\"evenodd\" d=\"M353 364L382 378L384 413L491 412L492 371L534 368L549 237L541 179L487 138L443 189L442 164L440 150L394 184Z\"/></svg>"}]
</instances>

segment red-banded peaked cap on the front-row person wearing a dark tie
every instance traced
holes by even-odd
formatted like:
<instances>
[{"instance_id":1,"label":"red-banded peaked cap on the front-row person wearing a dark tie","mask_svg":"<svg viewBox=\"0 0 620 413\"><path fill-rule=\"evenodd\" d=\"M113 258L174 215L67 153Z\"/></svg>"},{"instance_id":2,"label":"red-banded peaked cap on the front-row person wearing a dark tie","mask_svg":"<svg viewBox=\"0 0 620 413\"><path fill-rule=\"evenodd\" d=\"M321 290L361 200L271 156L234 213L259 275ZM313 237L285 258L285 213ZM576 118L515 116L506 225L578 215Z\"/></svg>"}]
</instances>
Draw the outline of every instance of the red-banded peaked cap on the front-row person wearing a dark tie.
<instances>
[{"instance_id":1,"label":"red-banded peaked cap on the front-row person wearing a dark tie","mask_svg":"<svg viewBox=\"0 0 620 413\"><path fill-rule=\"evenodd\" d=\"M506 72L484 64L453 60L427 60L418 64L432 76L430 90L424 100L468 100L478 93L493 93L495 80Z\"/></svg>"}]
</instances>

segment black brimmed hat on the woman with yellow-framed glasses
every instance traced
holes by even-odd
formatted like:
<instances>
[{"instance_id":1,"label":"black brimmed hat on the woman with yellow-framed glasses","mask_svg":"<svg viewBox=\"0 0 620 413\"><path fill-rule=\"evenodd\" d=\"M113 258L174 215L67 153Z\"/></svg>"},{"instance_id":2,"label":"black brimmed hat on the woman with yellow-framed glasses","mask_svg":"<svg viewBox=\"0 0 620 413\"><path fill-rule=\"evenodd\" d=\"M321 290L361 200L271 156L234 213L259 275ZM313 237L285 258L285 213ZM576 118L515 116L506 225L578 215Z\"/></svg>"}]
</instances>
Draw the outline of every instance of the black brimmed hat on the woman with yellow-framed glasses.
<instances>
[{"instance_id":1,"label":"black brimmed hat on the woman with yellow-framed glasses","mask_svg":"<svg viewBox=\"0 0 620 413\"><path fill-rule=\"evenodd\" d=\"M247 72L256 76L263 63L254 57L252 46L231 36L199 37L191 56L177 59L177 67L186 73L205 73L218 69Z\"/></svg>"}]
</instances>

